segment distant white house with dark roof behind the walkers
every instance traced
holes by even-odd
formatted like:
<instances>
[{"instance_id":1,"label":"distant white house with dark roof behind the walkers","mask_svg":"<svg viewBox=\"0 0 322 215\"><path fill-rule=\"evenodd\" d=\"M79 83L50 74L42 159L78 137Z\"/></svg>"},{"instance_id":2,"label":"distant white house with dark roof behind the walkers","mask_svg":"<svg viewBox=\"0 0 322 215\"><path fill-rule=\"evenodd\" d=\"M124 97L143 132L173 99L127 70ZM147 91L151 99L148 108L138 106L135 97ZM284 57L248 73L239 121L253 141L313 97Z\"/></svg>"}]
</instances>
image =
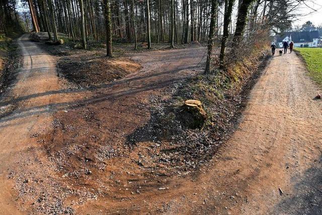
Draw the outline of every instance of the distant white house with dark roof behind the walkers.
<instances>
[{"instance_id":1,"label":"distant white house with dark roof behind the walkers","mask_svg":"<svg viewBox=\"0 0 322 215\"><path fill-rule=\"evenodd\" d=\"M294 42L294 47L317 47L318 31L301 31L301 32L285 32L282 36L276 36L276 44L278 47L283 46L283 42Z\"/></svg>"}]
</instances>

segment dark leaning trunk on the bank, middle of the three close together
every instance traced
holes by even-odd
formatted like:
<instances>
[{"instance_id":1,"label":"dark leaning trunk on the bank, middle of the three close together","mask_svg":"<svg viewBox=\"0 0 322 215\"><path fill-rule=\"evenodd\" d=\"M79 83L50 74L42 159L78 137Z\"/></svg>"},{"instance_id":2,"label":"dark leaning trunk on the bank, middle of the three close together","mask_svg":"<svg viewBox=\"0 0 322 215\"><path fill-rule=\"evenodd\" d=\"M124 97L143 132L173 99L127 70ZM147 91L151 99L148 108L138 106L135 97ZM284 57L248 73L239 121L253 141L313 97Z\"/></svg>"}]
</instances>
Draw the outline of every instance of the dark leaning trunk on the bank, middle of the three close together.
<instances>
[{"instance_id":1,"label":"dark leaning trunk on the bank, middle of the three close together","mask_svg":"<svg viewBox=\"0 0 322 215\"><path fill-rule=\"evenodd\" d=\"M229 36L229 23L231 21L231 13L232 7L235 0L225 0L225 12L224 12L224 20L223 20L223 35L221 39L221 48L220 48L220 55L219 55L219 64L220 68L224 68L224 60L225 60L225 50L226 50L226 42Z\"/></svg>"}]
</instances>

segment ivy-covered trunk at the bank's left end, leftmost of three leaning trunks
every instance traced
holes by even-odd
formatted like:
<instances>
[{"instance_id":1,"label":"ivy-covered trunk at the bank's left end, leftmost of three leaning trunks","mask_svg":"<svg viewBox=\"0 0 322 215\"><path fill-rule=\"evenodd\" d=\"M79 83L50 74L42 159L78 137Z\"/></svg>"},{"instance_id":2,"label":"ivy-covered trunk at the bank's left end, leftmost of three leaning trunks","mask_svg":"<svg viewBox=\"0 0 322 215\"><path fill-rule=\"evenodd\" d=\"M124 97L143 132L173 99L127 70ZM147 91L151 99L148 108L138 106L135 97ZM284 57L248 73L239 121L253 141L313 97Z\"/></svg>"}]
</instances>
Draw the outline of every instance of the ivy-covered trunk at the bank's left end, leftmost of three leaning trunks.
<instances>
[{"instance_id":1,"label":"ivy-covered trunk at the bank's left end, leftmost of three leaning trunks","mask_svg":"<svg viewBox=\"0 0 322 215\"><path fill-rule=\"evenodd\" d=\"M206 61L206 69L205 73L211 73L213 71L212 68L212 49L214 43L215 36L215 25L217 20L217 9L218 9L218 0L211 0L211 13L210 13L210 28L209 28L209 36L208 36L208 51L207 51L207 61Z\"/></svg>"}]
</instances>

